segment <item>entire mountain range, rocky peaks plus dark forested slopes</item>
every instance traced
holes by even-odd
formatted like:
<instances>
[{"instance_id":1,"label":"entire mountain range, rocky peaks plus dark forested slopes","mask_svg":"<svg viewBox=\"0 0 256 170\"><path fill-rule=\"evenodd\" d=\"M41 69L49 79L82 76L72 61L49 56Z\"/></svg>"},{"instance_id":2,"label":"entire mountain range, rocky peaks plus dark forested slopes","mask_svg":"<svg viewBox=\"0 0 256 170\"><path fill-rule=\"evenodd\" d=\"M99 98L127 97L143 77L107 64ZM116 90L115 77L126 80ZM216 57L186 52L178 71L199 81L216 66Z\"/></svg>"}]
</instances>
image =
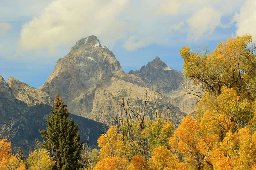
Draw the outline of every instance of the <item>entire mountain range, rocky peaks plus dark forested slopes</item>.
<instances>
[{"instance_id":1,"label":"entire mountain range, rocky peaks plus dark forested slopes","mask_svg":"<svg viewBox=\"0 0 256 170\"><path fill-rule=\"evenodd\" d=\"M125 73L113 52L102 47L96 36L79 40L70 52L60 58L48 77L38 89L10 77L6 82L0 76L0 123L13 119L19 127L12 146L25 149L25 140L41 140L39 129L46 128L46 119L51 113L56 94L78 123L81 141L90 131L90 144L96 144L101 131L110 124L113 113L123 116L117 103L120 90L134 102L145 100L145 90L156 95L171 97L174 123L186 114L195 111L196 100L185 95L185 86L190 86L180 71L168 67L159 57L142 66L140 71ZM150 114L149 114L150 117Z\"/></svg>"}]
</instances>

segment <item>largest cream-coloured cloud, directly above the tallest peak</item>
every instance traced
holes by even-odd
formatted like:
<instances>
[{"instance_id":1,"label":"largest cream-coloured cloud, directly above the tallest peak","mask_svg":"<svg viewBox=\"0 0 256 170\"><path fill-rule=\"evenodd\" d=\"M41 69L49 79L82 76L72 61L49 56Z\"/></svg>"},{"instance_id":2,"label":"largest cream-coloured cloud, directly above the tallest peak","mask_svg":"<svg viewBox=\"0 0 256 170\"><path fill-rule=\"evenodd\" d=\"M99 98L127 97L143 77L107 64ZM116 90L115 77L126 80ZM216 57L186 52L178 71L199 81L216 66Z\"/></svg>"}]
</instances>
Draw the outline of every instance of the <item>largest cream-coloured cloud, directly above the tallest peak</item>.
<instances>
[{"instance_id":1,"label":"largest cream-coloured cloud, directly above the tallest peak","mask_svg":"<svg viewBox=\"0 0 256 170\"><path fill-rule=\"evenodd\" d=\"M118 18L126 4L126 0L56 0L41 16L22 26L19 48L52 51L88 35L111 44L126 37L126 22Z\"/></svg>"}]
</instances>

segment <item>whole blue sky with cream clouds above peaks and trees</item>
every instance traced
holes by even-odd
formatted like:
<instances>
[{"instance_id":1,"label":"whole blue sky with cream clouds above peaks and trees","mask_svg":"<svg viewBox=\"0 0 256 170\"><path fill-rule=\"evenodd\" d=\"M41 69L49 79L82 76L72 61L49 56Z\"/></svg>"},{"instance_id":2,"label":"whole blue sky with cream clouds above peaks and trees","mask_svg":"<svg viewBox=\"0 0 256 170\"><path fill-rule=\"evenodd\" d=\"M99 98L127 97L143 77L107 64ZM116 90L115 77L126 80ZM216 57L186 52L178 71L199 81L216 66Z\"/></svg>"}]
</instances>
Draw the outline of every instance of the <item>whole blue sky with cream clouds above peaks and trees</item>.
<instances>
[{"instance_id":1,"label":"whole blue sky with cream clouds above peaks and trees","mask_svg":"<svg viewBox=\"0 0 256 170\"><path fill-rule=\"evenodd\" d=\"M159 56L183 70L179 50L213 51L230 37L256 43L256 0L1 0L0 75L41 86L59 58L95 35L123 70Z\"/></svg>"}]
</instances>

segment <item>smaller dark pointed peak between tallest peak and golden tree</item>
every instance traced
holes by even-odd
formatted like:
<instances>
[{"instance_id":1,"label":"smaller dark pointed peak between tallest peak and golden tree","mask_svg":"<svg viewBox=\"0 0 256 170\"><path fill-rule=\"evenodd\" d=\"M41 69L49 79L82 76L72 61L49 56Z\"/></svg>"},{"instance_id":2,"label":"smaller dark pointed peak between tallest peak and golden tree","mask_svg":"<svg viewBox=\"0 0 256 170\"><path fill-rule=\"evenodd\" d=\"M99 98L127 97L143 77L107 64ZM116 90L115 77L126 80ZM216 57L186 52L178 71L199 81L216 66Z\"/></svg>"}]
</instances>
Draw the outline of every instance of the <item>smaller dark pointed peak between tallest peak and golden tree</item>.
<instances>
[{"instance_id":1,"label":"smaller dark pointed peak between tallest peak and golden tree","mask_svg":"<svg viewBox=\"0 0 256 170\"><path fill-rule=\"evenodd\" d=\"M168 67L159 57L155 57L140 70L129 71L129 74L137 75L148 87L152 86L155 91L162 91L165 96L171 97L172 104L181 112L190 114L195 111L197 100L194 95L187 94L186 89L192 86L192 82L180 71Z\"/></svg>"}]
</instances>

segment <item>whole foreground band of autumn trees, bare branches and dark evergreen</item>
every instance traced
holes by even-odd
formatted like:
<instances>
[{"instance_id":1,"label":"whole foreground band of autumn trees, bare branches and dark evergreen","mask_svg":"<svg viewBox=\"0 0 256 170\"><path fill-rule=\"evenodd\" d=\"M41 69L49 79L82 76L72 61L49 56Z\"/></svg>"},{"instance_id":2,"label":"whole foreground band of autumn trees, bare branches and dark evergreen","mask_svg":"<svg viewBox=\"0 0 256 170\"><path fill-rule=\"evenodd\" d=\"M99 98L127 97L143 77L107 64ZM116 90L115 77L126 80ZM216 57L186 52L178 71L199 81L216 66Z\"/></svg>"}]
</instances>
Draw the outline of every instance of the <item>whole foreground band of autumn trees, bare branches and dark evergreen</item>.
<instances>
[{"instance_id":1,"label":"whole foreground band of autumn trees, bare branches and dark evergreen","mask_svg":"<svg viewBox=\"0 0 256 170\"><path fill-rule=\"evenodd\" d=\"M256 47L252 36L229 38L213 52L180 49L183 73L197 90L197 110L172 121L170 103L145 88L135 102L120 90L111 126L97 146L80 142L78 125L57 94L43 141L25 156L12 151L13 122L0 127L0 169L256 169Z\"/></svg>"}]
</instances>

